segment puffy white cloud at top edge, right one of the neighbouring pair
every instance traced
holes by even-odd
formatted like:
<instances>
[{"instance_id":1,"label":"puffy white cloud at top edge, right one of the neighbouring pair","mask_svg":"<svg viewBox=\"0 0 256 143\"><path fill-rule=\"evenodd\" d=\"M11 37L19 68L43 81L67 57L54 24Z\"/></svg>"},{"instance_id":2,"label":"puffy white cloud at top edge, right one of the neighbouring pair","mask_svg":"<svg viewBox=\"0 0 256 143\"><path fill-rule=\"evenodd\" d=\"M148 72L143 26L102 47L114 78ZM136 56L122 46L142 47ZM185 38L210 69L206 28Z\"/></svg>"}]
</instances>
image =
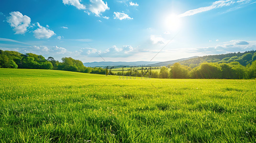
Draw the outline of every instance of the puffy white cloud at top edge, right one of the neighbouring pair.
<instances>
[{"instance_id":1,"label":"puffy white cloud at top edge, right one of the neighbouring pair","mask_svg":"<svg viewBox=\"0 0 256 143\"><path fill-rule=\"evenodd\" d=\"M108 3L102 0L90 0L89 10L95 14L95 16L100 16L101 12L109 10Z\"/></svg>"}]
</instances>

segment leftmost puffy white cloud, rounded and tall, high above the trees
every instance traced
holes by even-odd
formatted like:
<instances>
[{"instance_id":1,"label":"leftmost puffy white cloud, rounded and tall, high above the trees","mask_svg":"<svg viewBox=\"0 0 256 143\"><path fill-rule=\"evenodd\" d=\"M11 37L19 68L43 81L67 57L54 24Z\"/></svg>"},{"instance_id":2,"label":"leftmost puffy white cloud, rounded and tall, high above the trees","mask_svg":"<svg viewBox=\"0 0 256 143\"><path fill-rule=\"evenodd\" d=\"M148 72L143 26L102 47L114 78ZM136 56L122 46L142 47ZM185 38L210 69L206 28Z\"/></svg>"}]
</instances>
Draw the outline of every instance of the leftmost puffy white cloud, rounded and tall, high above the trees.
<instances>
[{"instance_id":1,"label":"leftmost puffy white cloud, rounded and tall, high above the trees","mask_svg":"<svg viewBox=\"0 0 256 143\"><path fill-rule=\"evenodd\" d=\"M11 16L7 17L7 22L13 27L14 34L24 34L30 25L31 19L26 15L22 15L19 11L13 11Z\"/></svg>"}]
</instances>

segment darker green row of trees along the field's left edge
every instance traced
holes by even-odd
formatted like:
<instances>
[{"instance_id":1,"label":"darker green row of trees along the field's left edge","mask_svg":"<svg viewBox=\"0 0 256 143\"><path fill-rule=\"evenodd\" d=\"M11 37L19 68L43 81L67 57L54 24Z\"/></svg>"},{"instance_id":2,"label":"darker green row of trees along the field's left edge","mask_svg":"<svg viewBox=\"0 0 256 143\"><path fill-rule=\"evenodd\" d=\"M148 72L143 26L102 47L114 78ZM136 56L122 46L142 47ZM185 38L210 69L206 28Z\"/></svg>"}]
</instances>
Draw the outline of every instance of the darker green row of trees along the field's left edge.
<instances>
[{"instance_id":1,"label":"darker green row of trees along the field's left edge","mask_svg":"<svg viewBox=\"0 0 256 143\"><path fill-rule=\"evenodd\" d=\"M61 60L62 62L56 61L53 57L45 59L42 55L33 53L22 54L17 51L0 50L0 68L46 69L105 74L105 70L102 68L85 67L82 61L70 57L64 57Z\"/></svg>"}]
</instances>

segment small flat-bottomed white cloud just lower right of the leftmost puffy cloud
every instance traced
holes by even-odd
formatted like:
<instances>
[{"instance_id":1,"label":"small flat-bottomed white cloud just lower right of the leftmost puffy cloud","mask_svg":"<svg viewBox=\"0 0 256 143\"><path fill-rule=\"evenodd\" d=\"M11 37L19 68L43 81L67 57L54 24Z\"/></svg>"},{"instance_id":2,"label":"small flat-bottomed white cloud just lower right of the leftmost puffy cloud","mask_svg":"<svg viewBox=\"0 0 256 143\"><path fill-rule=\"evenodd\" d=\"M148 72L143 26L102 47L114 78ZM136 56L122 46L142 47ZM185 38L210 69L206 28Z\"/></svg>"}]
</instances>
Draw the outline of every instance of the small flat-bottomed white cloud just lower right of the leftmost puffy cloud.
<instances>
[{"instance_id":1,"label":"small flat-bottomed white cloud just lower right of the leftmost puffy cloud","mask_svg":"<svg viewBox=\"0 0 256 143\"><path fill-rule=\"evenodd\" d=\"M34 37L37 39L44 39L44 38L48 39L48 38L56 35L54 33L54 31L51 31L48 28L41 26L38 22L37 22L37 26L39 28L33 31Z\"/></svg>"}]
</instances>

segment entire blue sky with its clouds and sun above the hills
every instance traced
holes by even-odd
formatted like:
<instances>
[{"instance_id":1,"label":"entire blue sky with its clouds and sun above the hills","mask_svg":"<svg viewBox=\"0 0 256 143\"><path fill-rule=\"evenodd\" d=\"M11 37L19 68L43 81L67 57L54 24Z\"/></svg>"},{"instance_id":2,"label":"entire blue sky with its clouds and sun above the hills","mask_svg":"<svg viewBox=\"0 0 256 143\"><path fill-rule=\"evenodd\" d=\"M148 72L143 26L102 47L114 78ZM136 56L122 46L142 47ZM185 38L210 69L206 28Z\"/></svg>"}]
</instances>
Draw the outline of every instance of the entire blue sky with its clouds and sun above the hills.
<instances>
[{"instance_id":1,"label":"entire blue sky with its clouds and sun above the hills","mask_svg":"<svg viewBox=\"0 0 256 143\"><path fill-rule=\"evenodd\" d=\"M0 49L169 61L256 50L255 23L256 0L1 0Z\"/></svg>"}]
</instances>

